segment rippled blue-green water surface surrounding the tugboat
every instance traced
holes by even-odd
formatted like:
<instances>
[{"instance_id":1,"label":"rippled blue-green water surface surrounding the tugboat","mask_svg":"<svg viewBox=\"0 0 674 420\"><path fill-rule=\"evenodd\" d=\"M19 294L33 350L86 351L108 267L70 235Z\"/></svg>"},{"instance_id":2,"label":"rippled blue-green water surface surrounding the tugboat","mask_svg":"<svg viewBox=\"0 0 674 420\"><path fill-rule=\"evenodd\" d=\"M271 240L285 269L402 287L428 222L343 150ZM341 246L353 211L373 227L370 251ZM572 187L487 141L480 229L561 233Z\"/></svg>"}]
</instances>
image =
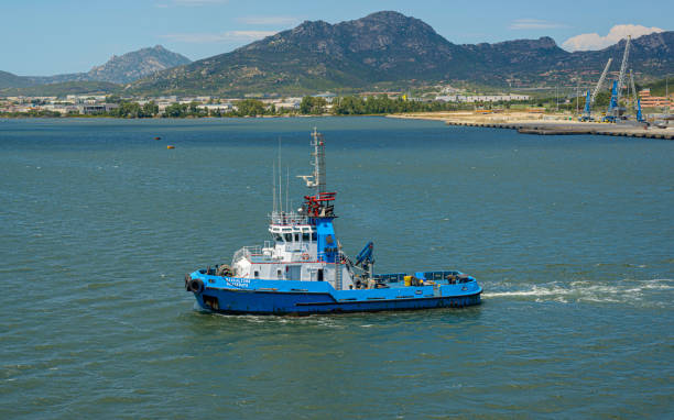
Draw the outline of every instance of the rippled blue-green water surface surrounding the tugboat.
<instances>
[{"instance_id":1,"label":"rippled blue-green water surface surrounding the tugboat","mask_svg":"<svg viewBox=\"0 0 674 420\"><path fill-rule=\"evenodd\" d=\"M345 250L483 305L195 309L186 272L268 239L279 139L300 203L314 125ZM672 418L673 162L380 118L0 120L0 418Z\"/></svg>"}]
</instances>

